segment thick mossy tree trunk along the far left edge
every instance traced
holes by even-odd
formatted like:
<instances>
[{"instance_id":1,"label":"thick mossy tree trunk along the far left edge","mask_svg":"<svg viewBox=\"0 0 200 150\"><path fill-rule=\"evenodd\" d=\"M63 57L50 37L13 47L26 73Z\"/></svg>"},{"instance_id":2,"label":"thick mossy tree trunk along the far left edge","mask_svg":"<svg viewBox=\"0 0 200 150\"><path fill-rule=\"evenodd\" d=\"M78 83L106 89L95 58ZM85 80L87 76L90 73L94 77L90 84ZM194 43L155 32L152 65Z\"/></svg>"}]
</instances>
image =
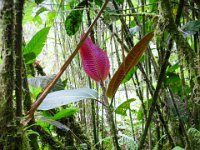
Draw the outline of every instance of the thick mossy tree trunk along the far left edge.
<instances>
[{"instance_id":1,"label":"thick mossy tree trunk along the far left edge","mask_svg":"<svg viewBox=\"0 0 200 150\"><path fill-rule=\"evenodd\" d=\"M13 108L13 89L14 89L14 59L13 59L13 31L14 13L13 0L1 1L1 59L0 66L0 147L14 149L15 143L9 142L14 136L14 108Z\"/></svg>"}]
</instances>

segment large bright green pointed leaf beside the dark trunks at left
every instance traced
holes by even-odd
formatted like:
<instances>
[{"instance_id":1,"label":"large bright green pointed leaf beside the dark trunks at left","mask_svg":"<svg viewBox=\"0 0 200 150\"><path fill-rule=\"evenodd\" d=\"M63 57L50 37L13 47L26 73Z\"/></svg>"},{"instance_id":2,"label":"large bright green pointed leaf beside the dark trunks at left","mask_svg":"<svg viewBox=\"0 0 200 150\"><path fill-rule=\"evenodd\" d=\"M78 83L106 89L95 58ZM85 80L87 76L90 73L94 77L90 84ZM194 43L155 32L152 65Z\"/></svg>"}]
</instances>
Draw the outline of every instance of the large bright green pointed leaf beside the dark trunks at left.
<instances>
[{"instance_id":1,"label":"large bright green pointed leaf beside the dark trunks at left","mask_svg":"<svg viewBox=\"0 0 200 150\"><path fill-rule=\"evenodd\" d=\"M41 29L28 42L28 44L26 45L23 51L26 64L33 63L36 57L41 53L44 47L45 41L47 39L49 30L50 30L50 27Z\"/></svg>"}]
</instances>

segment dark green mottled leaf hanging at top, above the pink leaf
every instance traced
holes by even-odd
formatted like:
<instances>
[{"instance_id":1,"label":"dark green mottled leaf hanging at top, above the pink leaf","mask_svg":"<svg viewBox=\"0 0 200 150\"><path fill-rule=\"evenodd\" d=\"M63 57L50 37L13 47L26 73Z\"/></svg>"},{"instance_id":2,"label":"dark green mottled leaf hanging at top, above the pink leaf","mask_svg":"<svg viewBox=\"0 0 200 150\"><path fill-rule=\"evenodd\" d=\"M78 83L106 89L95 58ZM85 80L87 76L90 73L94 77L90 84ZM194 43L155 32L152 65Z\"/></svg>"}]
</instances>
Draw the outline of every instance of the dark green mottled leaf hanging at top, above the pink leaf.
<instances>
[{"instance_id":1,"label":"dark green mottled leaf hanging at top, above the pink leaf","mask_svg":"<svg viewBox=\"0 0 200 150\"><path fill-rule=\"evenodd\" d=\"M85 1L79 3L74 9L85 7ZM65 29L69 36L74 35L81 26L83 10L72 10L65 20Z\"/></svg>"}]
</instances>

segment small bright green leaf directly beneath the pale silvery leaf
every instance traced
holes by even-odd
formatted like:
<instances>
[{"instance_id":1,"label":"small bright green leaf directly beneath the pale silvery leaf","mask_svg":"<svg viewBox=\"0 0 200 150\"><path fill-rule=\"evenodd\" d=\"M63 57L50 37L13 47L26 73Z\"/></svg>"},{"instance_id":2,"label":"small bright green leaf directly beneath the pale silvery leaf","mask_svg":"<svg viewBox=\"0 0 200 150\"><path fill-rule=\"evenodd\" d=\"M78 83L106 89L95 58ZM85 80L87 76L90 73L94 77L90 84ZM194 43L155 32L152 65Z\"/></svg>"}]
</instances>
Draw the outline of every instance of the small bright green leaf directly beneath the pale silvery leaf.
<instances>
[{"instance_id":1,"label":"small bright green leaf directly beneath the pale silvery leaf","mask_svg":"<svg viewBox=\"0 0 200 150\"><path fill-rule=\"evenodd\" d=\"M78 108L65 108L65 109L62 109L57 114L55 114L52 119L60 120L62 118L66 118L66 117L72 116L73 114L75 114L78 111L79 111Z\"/></svg>"}]
</instances>

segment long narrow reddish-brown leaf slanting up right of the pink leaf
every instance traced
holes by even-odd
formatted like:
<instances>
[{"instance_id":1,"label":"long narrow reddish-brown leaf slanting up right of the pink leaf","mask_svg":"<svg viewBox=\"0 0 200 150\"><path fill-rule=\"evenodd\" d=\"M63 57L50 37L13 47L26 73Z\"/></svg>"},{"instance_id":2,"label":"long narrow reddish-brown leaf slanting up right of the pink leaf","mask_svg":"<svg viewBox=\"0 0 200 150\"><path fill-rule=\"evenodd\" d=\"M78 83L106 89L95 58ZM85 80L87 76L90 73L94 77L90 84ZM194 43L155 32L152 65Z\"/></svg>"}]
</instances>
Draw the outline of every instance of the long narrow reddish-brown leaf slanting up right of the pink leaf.
<instances>
[{"instance_id":1,"label":"long narrow reddish-brown leaf slanting up right of the pink leaf","mask_svg":"<svg viewBox=\"0 0 200 150\"><path fill-rule=\"evenodd\" d=\"M108 97L114 96L122 80L125 78L128 72L138 63L138 61L140 60L140 57L146 50L146 47L149 41L153 38L153 35L154 35L153 32L150 32L149 34L147 34L129 52L124 62L120 65L118 70L115 72L114 76L112 77L108 85L108 89L106 92L106 95Z\"/></svg>"}]
</instances>

